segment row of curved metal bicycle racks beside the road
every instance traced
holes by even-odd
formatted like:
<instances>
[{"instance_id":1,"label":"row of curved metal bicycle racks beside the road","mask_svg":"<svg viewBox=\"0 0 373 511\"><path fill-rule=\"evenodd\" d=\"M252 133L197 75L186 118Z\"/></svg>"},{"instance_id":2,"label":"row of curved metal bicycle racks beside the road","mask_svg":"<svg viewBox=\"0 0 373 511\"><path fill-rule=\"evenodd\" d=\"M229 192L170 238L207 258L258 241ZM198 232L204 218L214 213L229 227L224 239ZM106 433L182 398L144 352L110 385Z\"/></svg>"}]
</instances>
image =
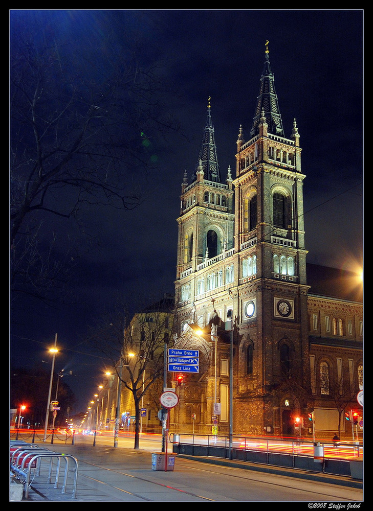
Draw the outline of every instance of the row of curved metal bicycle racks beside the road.
<instances>
[{"instance_id":1,"label":"row of curved metal bicycle racks beside the road","mask_svg":"<svg viewBox=\"0 0 373 511\"><path fill-rule=\"evenodd\" d=\"M64 453L58 453L50 451L46 448L41 448L36 445L30 444L15 444L11 443L10 446L10 469L14 473L15 477L23 484L25 484L25 498L28 498L29 487L31 485L31 475L33 480L35 477L41 475L41 463L42 461L49 461L49 473L47 482L52 482L52 474L54 469L54 460L57 460L57 466L55 471L54 488L59 486L60 466L61 463L64 465L64 477L62 483L61 493L66 493L66 487L68 483L69 469L73 471L73 491L72 498L76 498L76 486L78 481L78 461L70 455ZM69 467L69 461L74 463L73 468Z\"/></svg>"}]
</instances>

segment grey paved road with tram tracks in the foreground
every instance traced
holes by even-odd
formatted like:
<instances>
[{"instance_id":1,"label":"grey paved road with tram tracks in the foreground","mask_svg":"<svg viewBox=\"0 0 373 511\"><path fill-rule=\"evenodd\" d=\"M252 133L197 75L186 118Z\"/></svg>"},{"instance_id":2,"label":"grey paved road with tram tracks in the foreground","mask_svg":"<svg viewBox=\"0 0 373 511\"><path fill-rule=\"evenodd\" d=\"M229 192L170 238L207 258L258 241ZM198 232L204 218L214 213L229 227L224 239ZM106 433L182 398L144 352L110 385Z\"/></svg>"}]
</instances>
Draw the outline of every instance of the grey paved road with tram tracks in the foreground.
<instances>
[{"instance_id":1,"label":"grey paved road with tram tracks in the foreground","mask_svg":"<svg viewBox=\"0 0 373 511\"><path fill-rule=\"evenodd\" d=\"M71 454L78 460L78 485L75 501L80 502L308 502L357 503L363 501L359 487L348 487L347 479L323 477L319 481L297 471L291 476L258 472L245 468L217 466L175 456L173 470L153 470L152 452L159 452L159 443L134 450L114 448L91 442L74 445L46 446L53 451ZM337 483L338 482L338 483ZM61 493L53 484L35 478L29 493L30 501L72 501L71 488ZM311 504L312 505L312 504ZM305 506L307 507L307 506ZM359 506L360 507L360 506Z\"/></svg>"}]
</instances>

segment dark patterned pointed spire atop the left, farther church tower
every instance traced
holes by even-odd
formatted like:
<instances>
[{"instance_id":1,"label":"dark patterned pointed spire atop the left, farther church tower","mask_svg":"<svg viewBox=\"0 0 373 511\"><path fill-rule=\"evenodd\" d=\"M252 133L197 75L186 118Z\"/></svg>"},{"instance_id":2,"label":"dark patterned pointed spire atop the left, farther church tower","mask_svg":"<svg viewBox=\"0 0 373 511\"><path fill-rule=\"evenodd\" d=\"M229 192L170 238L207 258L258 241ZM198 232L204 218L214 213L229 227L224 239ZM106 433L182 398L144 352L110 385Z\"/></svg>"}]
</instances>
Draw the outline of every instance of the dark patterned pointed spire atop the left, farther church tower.
<instances>
[{"instance_id":1,"label":"dark patterned pointed spire atop the left, farther church tower","mask_svg":"<svg viewBox=\"0 0 373 511\"><path fill-rule=\"evenodd\" d=\"M202 165L204 172L204 179L207 181L215 181L218 183L222 182L220 175L219 165L217 162L214 127L211 121L211 98L208 99L207 104L207 121L203 132L201 149L198 155L195 171L192 175L192 181L196 180L196 173L200 170L199 167Z\"/></svg>"}]
</instances>

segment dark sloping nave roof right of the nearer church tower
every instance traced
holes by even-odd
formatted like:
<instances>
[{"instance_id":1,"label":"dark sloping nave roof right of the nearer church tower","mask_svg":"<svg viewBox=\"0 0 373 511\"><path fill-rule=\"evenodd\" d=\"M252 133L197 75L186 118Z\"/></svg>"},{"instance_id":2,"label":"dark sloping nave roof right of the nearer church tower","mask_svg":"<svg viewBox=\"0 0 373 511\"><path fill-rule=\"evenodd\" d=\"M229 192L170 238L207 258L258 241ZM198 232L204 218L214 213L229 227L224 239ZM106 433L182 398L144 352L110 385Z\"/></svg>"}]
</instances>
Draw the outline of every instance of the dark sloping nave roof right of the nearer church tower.
<instances>
[{"instance_id":1,"label":"dark sloping nave roof right of the nearer church tower","mask_svg":"<svg viewBox=\"0 0 373 511\"><path fill-rule=\"evenodd\" d=\"M363 284L360 275L339 268L307 263L307 284L310 295L363 301Z\"/></svg>"}]
</instances>

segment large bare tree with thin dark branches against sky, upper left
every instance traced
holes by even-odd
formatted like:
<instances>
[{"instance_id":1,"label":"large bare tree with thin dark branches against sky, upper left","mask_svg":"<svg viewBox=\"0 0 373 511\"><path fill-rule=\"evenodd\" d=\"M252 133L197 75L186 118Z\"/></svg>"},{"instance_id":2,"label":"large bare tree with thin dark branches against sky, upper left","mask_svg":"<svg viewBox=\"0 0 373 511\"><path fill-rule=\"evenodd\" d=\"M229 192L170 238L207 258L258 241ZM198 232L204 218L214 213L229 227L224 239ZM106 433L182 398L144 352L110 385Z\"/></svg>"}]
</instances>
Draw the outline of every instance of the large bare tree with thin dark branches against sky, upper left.
<instances>
[{"instance_id":1,"label":"large bare tree with thin dark branches against sky, upper left","mask_svg":"<svg viewBox=\"0 0 373 511\"><path fill-rule=\"evenodd\" d=\"M78 254L72 240L53 251L43 219L82 224L92 206L135 208L174 124L159 62L143 58L139 33L123 30L120 46L107 33L101 50L37 21L11 32L11 284L45 297Z\"/></svg>"}]
</instances>

